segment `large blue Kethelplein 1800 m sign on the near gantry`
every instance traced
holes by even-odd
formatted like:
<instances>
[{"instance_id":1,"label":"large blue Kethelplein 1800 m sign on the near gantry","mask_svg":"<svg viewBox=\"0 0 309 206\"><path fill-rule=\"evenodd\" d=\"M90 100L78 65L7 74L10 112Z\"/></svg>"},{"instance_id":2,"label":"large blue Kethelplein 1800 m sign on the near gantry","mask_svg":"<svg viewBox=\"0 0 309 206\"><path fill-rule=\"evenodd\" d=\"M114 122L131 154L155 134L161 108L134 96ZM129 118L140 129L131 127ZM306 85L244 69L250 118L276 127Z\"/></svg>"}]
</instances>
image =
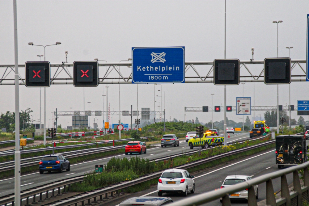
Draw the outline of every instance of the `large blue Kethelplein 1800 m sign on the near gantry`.
<instances>
[{"instance_id":1,"label":"large blue Kethelplein 1800 m sign on the near gantry","mask_svg":"<svg viewBox=\"0 0 309 206\"><path fill-rule=\"evenodd\" d=\"M184 83L184 47L133 47L132 83Z\"/></svg>"}]
</instances>

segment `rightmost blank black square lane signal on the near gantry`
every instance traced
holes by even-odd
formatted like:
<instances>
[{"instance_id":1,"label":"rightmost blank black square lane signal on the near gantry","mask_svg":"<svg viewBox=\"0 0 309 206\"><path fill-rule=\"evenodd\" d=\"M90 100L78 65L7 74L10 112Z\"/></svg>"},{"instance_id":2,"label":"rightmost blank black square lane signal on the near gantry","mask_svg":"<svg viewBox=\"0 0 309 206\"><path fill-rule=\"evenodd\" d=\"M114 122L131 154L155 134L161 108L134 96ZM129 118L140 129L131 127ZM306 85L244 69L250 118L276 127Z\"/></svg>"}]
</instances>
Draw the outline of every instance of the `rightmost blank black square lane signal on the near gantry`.
<instances>
[{"instance_id":1,"label":"rightmost blank black square lane signal on the near gantry","mask_svg":"<svg viewBox=\"0 0 309 206\"><path fill-rule=\"evenodd\" d=\"M290 58L266 58L264 60L265 84L290 84L291 83L291 59Z\"/></svg>"}]
</instances>

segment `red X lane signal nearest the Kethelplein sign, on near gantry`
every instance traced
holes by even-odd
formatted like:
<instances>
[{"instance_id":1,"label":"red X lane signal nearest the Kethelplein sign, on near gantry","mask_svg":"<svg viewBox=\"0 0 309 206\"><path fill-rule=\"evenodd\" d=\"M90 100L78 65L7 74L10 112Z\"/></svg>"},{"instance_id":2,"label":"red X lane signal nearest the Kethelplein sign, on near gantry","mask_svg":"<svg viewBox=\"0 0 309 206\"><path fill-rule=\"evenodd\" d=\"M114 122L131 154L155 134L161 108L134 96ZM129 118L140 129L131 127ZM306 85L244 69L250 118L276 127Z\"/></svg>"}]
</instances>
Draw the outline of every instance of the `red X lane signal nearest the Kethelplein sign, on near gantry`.
<instances>
[{"instance_id":1,"label":"red X lane signal nearest the Kethelplein sign, on near gantry","mask_svg":"<svg viewBox=\"0 0 309 206\"><path fill-rule=\"evenodd\" d=\"M74 86L98 86L99 63L97 61L74 61Z\"/></svg>"}]
</instances>

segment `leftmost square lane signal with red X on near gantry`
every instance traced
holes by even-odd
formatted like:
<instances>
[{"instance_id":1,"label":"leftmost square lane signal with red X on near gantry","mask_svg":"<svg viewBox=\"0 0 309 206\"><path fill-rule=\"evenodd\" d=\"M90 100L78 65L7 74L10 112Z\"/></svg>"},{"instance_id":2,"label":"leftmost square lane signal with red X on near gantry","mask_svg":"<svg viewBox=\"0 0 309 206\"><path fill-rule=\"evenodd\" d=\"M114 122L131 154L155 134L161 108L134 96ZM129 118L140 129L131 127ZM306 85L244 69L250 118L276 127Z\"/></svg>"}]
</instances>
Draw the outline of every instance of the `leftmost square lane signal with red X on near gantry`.
<instances>
[{"instance_id":1,"label":"leftmost square lane signal with red X on near gantry","mask_svg":"<svg viewBox=\"0 0 309 206\"><path fill-rule=\"evenodd\" d=\"M27 87L49 87L50 63L48 61L27 61L25 78Z\"/></svg>"}]
</instances>

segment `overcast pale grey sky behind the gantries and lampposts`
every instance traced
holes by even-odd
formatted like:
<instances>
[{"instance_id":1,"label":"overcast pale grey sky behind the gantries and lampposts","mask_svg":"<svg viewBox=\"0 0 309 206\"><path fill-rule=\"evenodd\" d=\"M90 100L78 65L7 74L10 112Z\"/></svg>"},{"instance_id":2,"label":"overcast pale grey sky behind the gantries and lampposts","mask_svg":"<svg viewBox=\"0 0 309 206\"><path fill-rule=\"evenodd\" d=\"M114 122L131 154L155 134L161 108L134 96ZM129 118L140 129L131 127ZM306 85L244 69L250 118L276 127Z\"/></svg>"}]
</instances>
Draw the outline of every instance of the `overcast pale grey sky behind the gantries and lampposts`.
<instances>
[{"instance_id":1,"label":"overcast pale grey sky behind the gantries and lampposts","mask_svg":"<svg viewBox=\"0 0 309 206\"><path fill-rule=\"evenodd\" d=\"M277 56L277 26L279 24L279 57L288 57L287 46L291 49L291 59L306 58L306 31L308 1L231 1L226 4L226 57L249 60L251 48L255 48L254 59L264 60ZM14 63L13 3L0 1L0 63ZM69 52L68 62L86 61L99 58L108 62L119 62L131 58L132 47L184 46L186 61L213 61L224 58L224 0L214 1L17 1L19 63L39 61L36 55L44 54L44 49L34 44L62 44L46 48L46 61L65 61L65 51ZM302 65L305 68L305 65ZM249 65L254 75L258 75L263 65ZM201 75L205 68L197 67ZM204 69L203 69L204 68ZM52 70L55 68L52 68ZM72 71L72 70L71 70ZM129 76L130 68L121 71ZM0 75L4 72L0 68ZM241 68L241 75L248 74ZM20 68L24 76L24 68ZM298 67L293 75L303 74ZM11 75L11 76L10 76ZM8 78L14 78L10 74ZM186 75L193 75L193 70ZM61 75L60 75L61 76ZM60 77L59 76L59 77ZM100 75L101 76L101 75ZM65 76L63 76L65 77ZM105 87L106 85L104 85ZM108 85L108 102L111 110L119 110L119 85ZM121 85L121 110L136 108L136 84ZM39 118L39 88L20 86L20 109L30 107L34 119ZM85 109L102 110L102 85L85 88ZM165 91L166 119L176 117L184 120L184 107L211 106L223 104L224 86L213 83L163 84ZM235 97L242 96L242 85L227 87L227 105L235 106ZM288 105L288 85L279 86L279 104ZM139 110L141 107L153 109L153 84L139 85ZM157 90L156 94L161 95ZM276 105L275 85L255 83L255 105ZM73 85L51 85L46 88L46 124L51 111L83 110L83 88ZM42 90L42 124L43 124ZM104 94L106 89L104 88ZM244 85L244 96L252 96L253 83ZM0 86L0 113L14 111L14 86ZM308 100L307 82L291 83L291 104L297 100ZM161 99L156 97L156 101ZM158 104L156 104L158 106ZM258 113L258 112L256 112ZM223 112L214 114L214 121L223 120ZM186 120L198 117L206 123L211 120L211 112L187 112ZM235 112L228 118L237 119ZM240 116L242 117L242 116ZM113 122L118 122L117 116ZM297 112L292 118L298 119ZM308 120L308 117L305 117ZM129 123L129 117L122 117ZM91 126L93 125L91 118ZM99 126L102 117L98 117ZM58 124L70 126L69 117L60 117Z\"/></svg>"}]
</instances>

